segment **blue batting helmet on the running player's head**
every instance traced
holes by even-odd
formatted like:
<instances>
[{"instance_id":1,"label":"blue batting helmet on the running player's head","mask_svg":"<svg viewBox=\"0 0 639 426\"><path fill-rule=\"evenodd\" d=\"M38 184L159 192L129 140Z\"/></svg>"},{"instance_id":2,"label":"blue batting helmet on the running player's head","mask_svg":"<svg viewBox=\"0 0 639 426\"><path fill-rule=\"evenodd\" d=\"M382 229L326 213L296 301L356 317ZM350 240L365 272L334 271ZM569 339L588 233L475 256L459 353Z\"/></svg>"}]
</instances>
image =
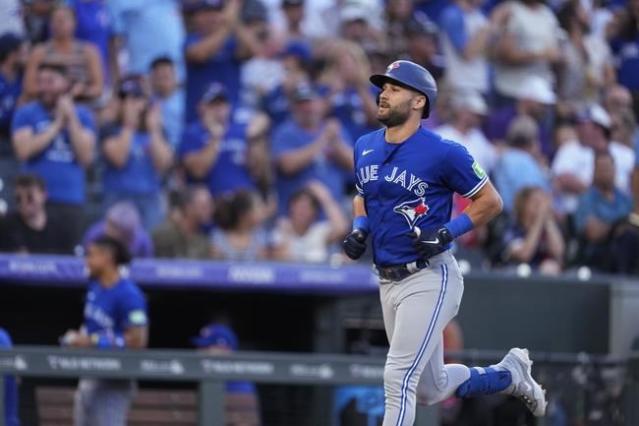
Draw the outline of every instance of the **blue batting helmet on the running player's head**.
<instances>
[{"instance_id":1,"label":"blue batting helmet on the running player's head","mask_svg":"<svg viewBox=\"0 0 639 426\"><path fill-rule=\"evenodd\" d=\"M384 83L391 82L406 86L426 96L428 105L424 108L424 118L428 117L437 100L435 78L426 68L411 61L395 61L386 68L386 73L374 74L370 81L380 89Z\"/></svg>"}]
</instances>

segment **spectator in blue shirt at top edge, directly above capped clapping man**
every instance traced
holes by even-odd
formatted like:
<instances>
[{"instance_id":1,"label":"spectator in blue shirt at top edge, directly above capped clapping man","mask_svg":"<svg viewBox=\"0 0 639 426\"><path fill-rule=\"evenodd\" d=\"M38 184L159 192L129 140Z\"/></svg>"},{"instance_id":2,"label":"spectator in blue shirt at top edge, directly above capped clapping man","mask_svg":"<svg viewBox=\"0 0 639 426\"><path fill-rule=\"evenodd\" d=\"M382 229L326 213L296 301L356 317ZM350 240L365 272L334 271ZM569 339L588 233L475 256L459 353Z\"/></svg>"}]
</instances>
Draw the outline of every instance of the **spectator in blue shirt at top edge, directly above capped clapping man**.
<instances>
[{"instance_id":1,"label":"spectator in blue shirt at top edge, directly above capped clapping man","mask_svg":"<svg viewBox=\"0 0 639 426\"><path fill-rule=\"evenodd\" d=\"M256 54L260 44L240 20L239 0L199 0L189 7L193 31L187 35L186 120L197 119L202 92L214 82L227 90L231 105L240 94L240 61Z\"/></svg>"}]
</instances>

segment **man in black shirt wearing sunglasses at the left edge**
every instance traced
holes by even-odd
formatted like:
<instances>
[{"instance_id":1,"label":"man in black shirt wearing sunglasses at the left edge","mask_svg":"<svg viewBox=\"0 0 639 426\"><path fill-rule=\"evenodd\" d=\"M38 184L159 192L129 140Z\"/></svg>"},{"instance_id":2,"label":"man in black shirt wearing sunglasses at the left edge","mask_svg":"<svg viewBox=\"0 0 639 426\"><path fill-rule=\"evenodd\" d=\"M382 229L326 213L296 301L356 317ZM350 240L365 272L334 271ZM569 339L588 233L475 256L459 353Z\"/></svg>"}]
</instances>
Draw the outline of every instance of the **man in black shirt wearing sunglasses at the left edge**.
<instances>
[{"instance_id":1,"label":"man in black shirt wearing sunglasses at the left edge","mask_svg":"<svg viewBox=\"0 0 639 426\"><path fill-rule=\"evenodd\" d=\"M0 252L72 254L77 241L71 222L47 212L44 181L20 175L14 192L16 210L0 219Z\"/></svg>"}]
</instances>

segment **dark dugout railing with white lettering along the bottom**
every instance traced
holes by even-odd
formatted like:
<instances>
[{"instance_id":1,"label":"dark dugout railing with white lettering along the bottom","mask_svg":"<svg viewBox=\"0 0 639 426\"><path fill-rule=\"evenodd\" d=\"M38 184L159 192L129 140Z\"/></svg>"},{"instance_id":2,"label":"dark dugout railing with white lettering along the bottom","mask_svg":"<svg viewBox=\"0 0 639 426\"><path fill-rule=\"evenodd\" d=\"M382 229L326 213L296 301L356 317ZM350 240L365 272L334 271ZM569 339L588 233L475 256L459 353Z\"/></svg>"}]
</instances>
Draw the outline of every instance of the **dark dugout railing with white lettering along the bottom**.
<instances>
[{"instance_id":1,"label":"dark dugout railing with white lettering along the bottom","mask_svg":"<svg viewBox=\"0 0 639 426\"><path fill-rule=\"evenodd\" d=\"M503 353L464 351L450 354L469 363L493 362ZM620 372L623 395L620 423L639 424L639 354L629 359L585 354L535 353L537 375L552 383L552 368L569 366L583 371L613 369ZM135 379L199 384L199 425L224 425L224 382L250 380L283 385L380 385L383 359L347 355L241 352L207 356L194 351L99 351L55 347L19 346L0 351L0 373L17 377L78 377ZM4 401L0 386L0 413ZM584 388L586 389L586 388ZM586 413L584 413L586 415ZM420 409L416 425L438 424L436 409ZM538 426L547 424L544 419ZM4 419L0 416L0 426Z\"/></svg>"}]
</instances>

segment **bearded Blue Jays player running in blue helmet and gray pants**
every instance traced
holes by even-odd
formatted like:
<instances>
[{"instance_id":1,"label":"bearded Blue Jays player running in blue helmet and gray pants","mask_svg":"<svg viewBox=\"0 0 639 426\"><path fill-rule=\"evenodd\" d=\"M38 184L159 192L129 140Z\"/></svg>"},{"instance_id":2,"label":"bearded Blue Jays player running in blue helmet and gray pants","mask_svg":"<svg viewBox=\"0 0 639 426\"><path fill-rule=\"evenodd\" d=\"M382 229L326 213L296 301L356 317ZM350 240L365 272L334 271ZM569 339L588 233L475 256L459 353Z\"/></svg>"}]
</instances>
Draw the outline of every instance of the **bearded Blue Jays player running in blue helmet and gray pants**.
<instances>
[{"instance_id":1,"label":"bearded Blue Jays player running in blue helmet and gray pants","mask_svg":"<svg viewBox=\"0 0 639 426\"><path fill-rule=\"evenodd\" d=\"M426 69L396 61L370 81L381 88L377 118L385 127L355 145L359 194L353 231L343 247L358 259L367 237L372 239L390 342L383 425L412 425L416 402L435 404L453 393L507 393L535 416L544 415L545 392L531 376L527 350L511 349L490 367L444 365L442 330L457 315L464 290L449 248L455 238L495 217L501 198L463 146L421 127L437 98ZM454 192L472 203L450 220Z\"/></svg>"}]
</instances>

